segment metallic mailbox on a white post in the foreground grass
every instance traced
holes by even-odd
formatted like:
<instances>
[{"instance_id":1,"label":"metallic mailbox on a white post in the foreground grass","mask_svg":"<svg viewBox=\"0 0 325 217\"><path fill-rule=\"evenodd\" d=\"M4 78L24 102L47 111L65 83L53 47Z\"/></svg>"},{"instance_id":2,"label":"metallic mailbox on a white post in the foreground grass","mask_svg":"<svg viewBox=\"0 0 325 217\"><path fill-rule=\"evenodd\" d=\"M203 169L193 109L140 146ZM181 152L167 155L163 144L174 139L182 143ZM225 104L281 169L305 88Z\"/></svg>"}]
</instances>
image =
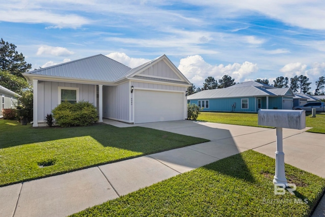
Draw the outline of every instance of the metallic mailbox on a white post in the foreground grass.
<instances>
[{"instance_id":1,"label":"metallic mailbox on a white post in the foreground grass","mask_svg":"<svg viewBox=\"0 0 325 217\"><path fill-rule=\"evenodd\" d=\"M275 175L273 183L287 185L284 172L282 128L305 129L305 110L260 109L258 111L258 125L276 128Z\"/></svg>"}]
</instances>

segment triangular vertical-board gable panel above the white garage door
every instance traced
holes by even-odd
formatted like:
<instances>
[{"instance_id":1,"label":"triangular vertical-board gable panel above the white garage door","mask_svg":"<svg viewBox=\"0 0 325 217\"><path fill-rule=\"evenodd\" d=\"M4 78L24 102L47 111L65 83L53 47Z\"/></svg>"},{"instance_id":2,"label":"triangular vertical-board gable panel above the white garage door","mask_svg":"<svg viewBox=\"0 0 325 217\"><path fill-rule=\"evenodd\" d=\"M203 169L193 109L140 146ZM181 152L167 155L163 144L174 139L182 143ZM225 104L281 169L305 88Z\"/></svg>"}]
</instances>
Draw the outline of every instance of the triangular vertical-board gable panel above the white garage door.
<instances>
[{"instance_id":1,"label":"triangular vertical-board gable panel above the white garage door","mask_svg":"<svg viewBox=\"0 0 325 217\"><path fill-rule=\"evenodd\" d=\"M164 60L159 61L158 63L150 66L148 69L144 70L138 75L149 75L155 77L163 77L163 78L172 78L176 80L181 80L176 73L165 63Z\"/></svg>"}]
</instances>

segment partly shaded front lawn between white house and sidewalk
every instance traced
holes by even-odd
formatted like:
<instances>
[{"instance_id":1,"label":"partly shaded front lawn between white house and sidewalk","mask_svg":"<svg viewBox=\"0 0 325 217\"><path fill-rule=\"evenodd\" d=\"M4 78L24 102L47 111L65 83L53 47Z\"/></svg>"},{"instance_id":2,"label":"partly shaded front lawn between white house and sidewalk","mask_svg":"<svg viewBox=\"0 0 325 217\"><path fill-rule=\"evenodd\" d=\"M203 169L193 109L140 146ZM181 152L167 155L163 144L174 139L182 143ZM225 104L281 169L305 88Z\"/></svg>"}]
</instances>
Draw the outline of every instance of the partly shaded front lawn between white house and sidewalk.
<instances>
[{"instance_id":1,"label":"partly shaded front lawn between white house and sidewalk","mask_svg":"<svg viewBox=\"0 0 325 217\"><path fill-rule=\"evenodd\" d=\"M149 128L32 128L0 119L0 186L208 140ZM39 165L50 165L40 167Z\"/></svg>"}]
</instances>

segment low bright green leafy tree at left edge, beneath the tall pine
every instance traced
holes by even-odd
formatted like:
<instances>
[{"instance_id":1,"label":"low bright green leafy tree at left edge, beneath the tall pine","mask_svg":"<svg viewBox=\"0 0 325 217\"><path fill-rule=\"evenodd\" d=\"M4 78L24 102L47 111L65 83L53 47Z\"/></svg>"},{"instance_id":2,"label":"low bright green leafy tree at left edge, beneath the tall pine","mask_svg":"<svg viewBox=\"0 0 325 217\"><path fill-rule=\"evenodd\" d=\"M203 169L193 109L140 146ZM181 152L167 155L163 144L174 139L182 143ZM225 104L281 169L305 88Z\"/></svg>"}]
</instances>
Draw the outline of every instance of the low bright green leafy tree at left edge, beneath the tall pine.
<instances>
[{"instance_id":1,"label":"low bright green leafy tree at left edge, beneath the tall pine","mask_svg":"<svg viewBox=\"0 0 325 217\"><path fill-rule=\"evenodd\" d=\"M21 95L25 89L30 88L30 85L25 78L18 77L10 74L8 71L2 70L0 70L0 85L16 92L19 95Z\"/></svg>"}]
</instances>

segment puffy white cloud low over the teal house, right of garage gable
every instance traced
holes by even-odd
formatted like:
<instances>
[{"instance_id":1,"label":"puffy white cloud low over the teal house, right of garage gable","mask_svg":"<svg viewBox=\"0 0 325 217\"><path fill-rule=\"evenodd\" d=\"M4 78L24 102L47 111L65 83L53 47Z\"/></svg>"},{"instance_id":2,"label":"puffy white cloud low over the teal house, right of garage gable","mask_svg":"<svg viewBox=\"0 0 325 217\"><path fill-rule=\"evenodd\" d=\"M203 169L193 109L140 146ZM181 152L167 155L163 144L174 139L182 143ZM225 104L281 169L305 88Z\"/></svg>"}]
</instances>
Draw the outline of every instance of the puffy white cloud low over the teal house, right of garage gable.
<instances>
[{"instance_id":1,"label":"puffy white cloud low over the teal house, right of garage gable","mask_svg":"<svg viewBox=\"0 0 325 217\"><path fill-rule=\"evenodd\" d=\"M201 87L204 80L212 76L216 80L221 79L223 75L229 75L240 82L251 73L257 72L257 64L245 61L243 64L234 63L224 66L210 65L200 55L187 56L180 60L178 69L197 87Z\"/></svg>"}]
</instances>

